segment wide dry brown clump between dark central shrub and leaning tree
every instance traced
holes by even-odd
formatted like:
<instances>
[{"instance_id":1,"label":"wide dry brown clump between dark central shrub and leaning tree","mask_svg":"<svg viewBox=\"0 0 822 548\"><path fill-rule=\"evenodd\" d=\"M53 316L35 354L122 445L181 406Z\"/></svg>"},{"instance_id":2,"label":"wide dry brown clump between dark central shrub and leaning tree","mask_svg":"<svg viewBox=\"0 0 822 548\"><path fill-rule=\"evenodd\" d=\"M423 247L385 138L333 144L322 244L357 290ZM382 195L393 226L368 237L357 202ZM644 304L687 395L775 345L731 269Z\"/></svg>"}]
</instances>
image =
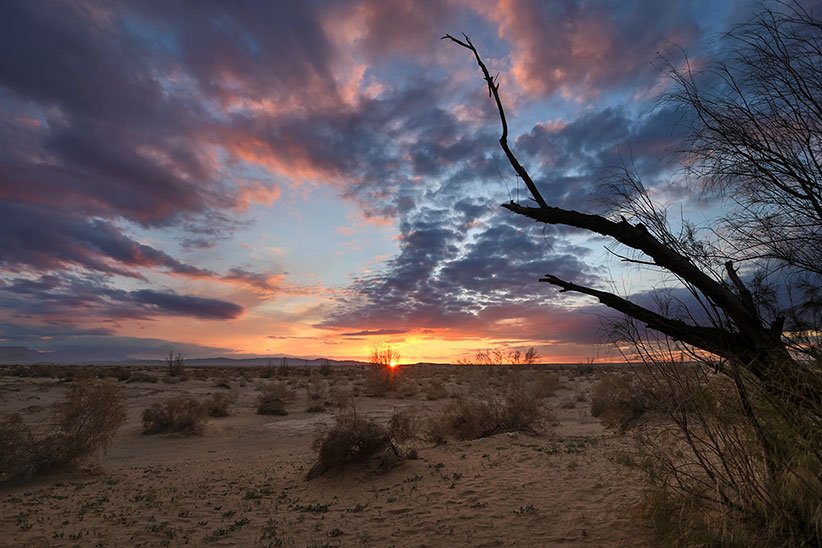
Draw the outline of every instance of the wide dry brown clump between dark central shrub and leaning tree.
<instances>
[{"instance_id":1,"label":"wide dry brown clump between dark central shrub and leaning tree","mask_svg":"<svg viewBox=\"0 0 822 548\"><path fill-rule=\"evenodd\" d=\"M476 439L500 432L535 432L544 417L541 398L521 375L512 374L501 390L460 396L431 417L428 435L436 443L448 437Z\"/></svg>"}]
</instances>

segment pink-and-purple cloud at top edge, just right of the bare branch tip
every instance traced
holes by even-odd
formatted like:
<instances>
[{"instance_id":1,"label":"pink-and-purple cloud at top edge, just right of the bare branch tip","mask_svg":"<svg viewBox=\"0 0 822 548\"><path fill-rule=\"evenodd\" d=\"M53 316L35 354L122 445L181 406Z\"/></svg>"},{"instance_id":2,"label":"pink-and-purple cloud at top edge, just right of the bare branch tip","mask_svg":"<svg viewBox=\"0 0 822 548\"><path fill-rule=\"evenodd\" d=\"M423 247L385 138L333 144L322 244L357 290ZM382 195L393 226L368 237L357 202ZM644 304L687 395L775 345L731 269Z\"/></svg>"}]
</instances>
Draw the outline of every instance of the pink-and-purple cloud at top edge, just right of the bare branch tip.
<instances>
[{"instance_id":1,"label":"pink-and-purple cloud at top edge, just right of the bare branch tip","mask_svg":"<svg viewBox=\"0 0 822 548\"><path fill-rule=\"evenodd\" d=\"M511 44L512 74L531 95L577 99L651 85L656 53L700 35L694 6L682 1L499 0L479 9Z\"/></svg>"}]
</instances>

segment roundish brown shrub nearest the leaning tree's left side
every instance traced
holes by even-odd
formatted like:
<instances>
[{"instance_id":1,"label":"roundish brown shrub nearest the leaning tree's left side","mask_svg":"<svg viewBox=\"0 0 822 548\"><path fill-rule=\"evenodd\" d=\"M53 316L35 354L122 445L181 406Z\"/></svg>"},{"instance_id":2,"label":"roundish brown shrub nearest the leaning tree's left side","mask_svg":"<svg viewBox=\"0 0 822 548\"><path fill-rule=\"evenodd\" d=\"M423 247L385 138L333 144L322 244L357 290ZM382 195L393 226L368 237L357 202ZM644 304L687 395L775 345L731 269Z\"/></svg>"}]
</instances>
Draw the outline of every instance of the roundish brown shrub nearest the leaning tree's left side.
<instances>
[{"instance_id":1,"label":"roundish brown shrub nearest the leaning tree's left side","mask_svg":"<svg viewBox=\"0 0 822 548\"><path fill-rule=\"evenodd\" d=\"M605 426L625 431L652 406L647 390L620 375L607 375L591 391L591 415Z\"/></svg>"}]
</instances>

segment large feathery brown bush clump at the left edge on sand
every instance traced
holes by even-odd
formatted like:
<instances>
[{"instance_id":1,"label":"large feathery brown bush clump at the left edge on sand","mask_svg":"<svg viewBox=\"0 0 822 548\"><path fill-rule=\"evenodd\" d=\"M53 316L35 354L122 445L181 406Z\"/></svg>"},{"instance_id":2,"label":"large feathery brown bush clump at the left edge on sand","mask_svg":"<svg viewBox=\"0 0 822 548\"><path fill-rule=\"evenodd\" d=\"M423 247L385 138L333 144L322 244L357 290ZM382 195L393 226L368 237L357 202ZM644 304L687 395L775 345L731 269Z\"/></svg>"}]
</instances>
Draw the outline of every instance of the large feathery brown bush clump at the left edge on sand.
<instances>
[{"instance_id":1,"label":"large feathery brown bush clump at the left edge on sand","mask_svg":"<svg viewBox=\"0 0 822 548\"><path fill-rule=\"evenodd\" d=\"M108 449L126 420L120 390L111 382L75 382L52 407L47 432L37 436L19 414L0 420L0 483L25 480L89 461Z\"/></svg>"}]
</instances>

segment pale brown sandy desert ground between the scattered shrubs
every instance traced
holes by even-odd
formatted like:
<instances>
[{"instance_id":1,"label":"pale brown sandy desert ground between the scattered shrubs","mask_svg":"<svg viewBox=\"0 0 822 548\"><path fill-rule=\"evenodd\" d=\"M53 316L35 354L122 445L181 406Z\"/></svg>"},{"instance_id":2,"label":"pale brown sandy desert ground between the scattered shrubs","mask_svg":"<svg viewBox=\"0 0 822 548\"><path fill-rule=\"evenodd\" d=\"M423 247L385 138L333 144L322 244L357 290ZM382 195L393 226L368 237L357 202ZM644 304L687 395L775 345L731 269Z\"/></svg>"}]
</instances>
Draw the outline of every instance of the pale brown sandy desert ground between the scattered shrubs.
<instances>
[{"instance_id":1,"label":"pale brown sandy desert ground between the scattered shrubs","mask_svg":"<svg viewBox=\"0 0 822 548\"><path fill-rule=\"evenodd\" d=\"M288 378L287 416L255 413L257 386L236 371L198 368L177 383L119 382L129 418L94 468L0 487L2 546L643 546L641 480L619 464L630 440L590 416L598 373L559 378L544 401L553 420L536 436L498 434L434 446L389 471L366 463L312 481L317 423L333 422L339 394L363 392L364 373L334 368L329 405L308 413L301 374ZM360 412L387 422L396 409L434 412L450 394L499 375L479 368L419 367L390 398L359 396ZM487 369L487 368L483 368ZM158 377L159 371L154 371ZM223 386L218 386L222 383ZM433 386L432 383L437 386ZM239 396L202 436L142 434L140 415L172 395ZM433 388L432 388L433 386ZM36 424L62 397L52 378L0 376L0 411Z\"/></svg>"}]
</instances>

